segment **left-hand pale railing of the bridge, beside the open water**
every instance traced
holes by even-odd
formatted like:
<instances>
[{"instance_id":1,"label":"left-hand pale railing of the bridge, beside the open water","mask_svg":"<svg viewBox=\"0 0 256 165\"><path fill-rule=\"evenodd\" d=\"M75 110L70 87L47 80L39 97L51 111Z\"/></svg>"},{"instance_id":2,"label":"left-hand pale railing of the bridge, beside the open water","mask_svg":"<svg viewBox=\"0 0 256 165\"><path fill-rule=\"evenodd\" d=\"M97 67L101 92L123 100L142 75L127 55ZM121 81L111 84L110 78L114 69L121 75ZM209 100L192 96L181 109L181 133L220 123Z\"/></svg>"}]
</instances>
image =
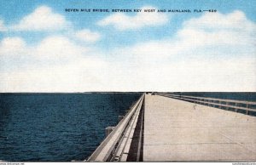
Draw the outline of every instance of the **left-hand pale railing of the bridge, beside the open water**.
<instances>
[{"instance_id":1,"label":"left-hand pale railing of the bridge, beside the open water","mask_svg":"<svg viewBox=\"0 0 256 165\"><path fill-rule=\"evenodd\" d=\"M116 155L117 154L119 156L122 155L122 153L117 153L117 152L124 151L124 148L127 148L127 145L131 145L131 140L128 141L127 137L131 136L131 128L135 127L134 125L137 122L137 116L142 109L144 96L145 94L143 94L140 97L140 99L137 100L137 103L132 106L131 110L118 123L118 125L113 128L113 131L106 137L106 139L102 141L101 145L99 145L96 148L96 151L94 151L92 155L85 161L87 162L116 161L115 160Z\"/></svg>"}]
</instances>

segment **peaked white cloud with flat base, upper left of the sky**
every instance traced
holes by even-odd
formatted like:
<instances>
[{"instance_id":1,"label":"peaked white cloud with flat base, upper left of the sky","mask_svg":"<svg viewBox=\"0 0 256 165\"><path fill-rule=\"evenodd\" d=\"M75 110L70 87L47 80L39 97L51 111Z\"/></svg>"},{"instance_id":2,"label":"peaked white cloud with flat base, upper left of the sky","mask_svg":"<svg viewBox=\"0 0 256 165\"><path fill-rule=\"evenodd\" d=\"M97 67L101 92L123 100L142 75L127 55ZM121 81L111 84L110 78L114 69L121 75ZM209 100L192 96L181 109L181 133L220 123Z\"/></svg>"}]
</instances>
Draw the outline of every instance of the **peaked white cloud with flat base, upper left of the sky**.
<instances>
[{"instance_id":1,"label":"peaked white cloud with flat base, upper left of the sky","mask_svg":"<svg viewBox=\"0 0 256 165\"><path fill-rule=\"evenodd\" d=\"M40 6L32 14L26 15L17 25L10 26L11 31L55 31L70 26L61 14L55 14L47 6Z\"/></svg>"}]
</instances>

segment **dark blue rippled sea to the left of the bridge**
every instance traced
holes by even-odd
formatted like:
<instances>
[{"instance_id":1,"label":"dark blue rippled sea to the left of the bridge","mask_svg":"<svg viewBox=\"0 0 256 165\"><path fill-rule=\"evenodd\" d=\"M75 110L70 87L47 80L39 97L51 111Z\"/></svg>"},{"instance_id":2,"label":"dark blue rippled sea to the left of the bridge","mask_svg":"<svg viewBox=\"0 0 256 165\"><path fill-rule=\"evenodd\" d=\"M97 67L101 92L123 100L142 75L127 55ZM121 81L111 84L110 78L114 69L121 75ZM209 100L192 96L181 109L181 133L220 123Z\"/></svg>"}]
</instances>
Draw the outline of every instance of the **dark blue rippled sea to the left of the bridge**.
<instances>
[{"instance_id":1,"label":"dark blue rippled sea to the left of the bridge","mask_svg":"<svg viewBox=\"0 0 256 165\"><path fill-rule=\"evenodd\" d=\"M140 94L0 94L0 160L84 160Z\"/></svg>"}]
</instances>

